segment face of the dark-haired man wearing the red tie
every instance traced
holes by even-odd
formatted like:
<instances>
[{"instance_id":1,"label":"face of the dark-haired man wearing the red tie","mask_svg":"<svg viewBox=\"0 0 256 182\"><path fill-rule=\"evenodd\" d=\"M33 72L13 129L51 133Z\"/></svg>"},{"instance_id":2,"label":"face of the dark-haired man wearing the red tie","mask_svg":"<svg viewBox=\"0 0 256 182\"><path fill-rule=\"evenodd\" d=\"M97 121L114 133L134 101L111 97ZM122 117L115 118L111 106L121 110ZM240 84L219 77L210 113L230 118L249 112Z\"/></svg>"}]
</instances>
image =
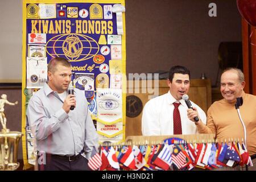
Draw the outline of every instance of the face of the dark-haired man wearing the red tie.
<instances>
[{"instance_id":1,"label":"face of the dark-haired man wearing the red tie","mask_svg":"<svg viewBox=\"0 0 256 182\"><path fill-rule=\"evenodd\" d=\"M174 78L172 78L172 82L167 80L168 86L170 88L170 93L172 97L176 100L181 100L184 94L188 93L190 81L188 74L174 73Z\"/></svg>"}]
</instances>

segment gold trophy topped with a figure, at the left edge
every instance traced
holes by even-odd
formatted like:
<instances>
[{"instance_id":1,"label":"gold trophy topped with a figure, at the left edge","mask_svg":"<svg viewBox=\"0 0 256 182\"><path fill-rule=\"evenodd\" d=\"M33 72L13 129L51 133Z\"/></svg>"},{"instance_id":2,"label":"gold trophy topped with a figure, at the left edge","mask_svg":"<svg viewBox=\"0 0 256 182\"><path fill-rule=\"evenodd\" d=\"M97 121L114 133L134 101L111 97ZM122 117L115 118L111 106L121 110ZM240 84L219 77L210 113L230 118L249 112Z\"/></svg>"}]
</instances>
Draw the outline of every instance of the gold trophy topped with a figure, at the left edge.
<instances>
[{"instance_id":1,"label":"gold trophy topped with a figure, at the left edge","mask_svg":"<svg viewBox=\"0 0 256 182\"><path fill-rule=\"evenodd\" d=\"M19 167L18 144L23 134L6 128L6 117L3 113L5 104L16 105L18 101L14 103L7 101L6 94L2 94L0 99L0 121L3 127L0 132L0 171L13 171Z\"/></svg>"}]
</instances>

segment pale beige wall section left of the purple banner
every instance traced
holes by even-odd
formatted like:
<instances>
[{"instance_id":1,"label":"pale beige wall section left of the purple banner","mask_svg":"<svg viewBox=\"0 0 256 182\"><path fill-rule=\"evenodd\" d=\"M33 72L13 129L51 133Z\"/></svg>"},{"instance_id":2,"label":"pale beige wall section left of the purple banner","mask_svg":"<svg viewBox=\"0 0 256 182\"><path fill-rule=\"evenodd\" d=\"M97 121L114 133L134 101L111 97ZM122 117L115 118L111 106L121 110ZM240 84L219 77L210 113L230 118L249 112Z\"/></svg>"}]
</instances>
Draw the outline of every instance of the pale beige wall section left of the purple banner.
<instances>
[{"instance_id":1,"label":"pale beige wall section left of the purple banner","mask_svg":"<svg viewBox=\"0 0 256 182\"><path fill-rule=\"evenodd\" d=\"M0 80L22 79L22 0L0 0Z\"/></svg>"}]
</instances>

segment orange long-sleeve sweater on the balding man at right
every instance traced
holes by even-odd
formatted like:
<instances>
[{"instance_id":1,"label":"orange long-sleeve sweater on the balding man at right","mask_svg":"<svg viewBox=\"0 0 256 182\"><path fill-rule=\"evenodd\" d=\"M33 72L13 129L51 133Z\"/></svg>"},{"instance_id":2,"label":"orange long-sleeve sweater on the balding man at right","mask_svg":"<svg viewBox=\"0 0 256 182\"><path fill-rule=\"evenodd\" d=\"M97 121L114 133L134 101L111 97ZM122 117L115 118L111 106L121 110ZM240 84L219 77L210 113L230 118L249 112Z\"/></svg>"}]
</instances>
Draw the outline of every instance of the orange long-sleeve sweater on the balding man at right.
<instances>
[{"instance_id":1,"label":"orange long-sleeve sweater on the balding man at right","mask_svg":"<svg viewBox=\"0 0 256 182\"><path fill-rule=\"evenodd\" d=\"M249 155L256 154L256 96L242 93L240 113L246 127L246 143ZM207 111L207 125L197 125L199 133L214 133L218 142L245 141L243 126L238 116L236 101L229 104L225 99L214 102Z\"/></svg>"}]
</instances>

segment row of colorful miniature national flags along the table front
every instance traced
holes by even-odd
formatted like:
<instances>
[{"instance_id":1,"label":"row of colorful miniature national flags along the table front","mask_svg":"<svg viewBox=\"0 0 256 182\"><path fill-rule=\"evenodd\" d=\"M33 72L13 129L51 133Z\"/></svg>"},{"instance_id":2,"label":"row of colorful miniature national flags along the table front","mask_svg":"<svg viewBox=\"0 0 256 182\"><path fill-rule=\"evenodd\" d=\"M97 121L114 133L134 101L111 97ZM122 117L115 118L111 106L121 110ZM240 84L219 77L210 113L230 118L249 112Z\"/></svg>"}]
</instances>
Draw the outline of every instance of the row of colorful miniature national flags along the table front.
<instances>
[{"instance_id":1,"label":"row of colorful miniature national flags along the table front","mask_svg":"<svg viewBox=\"0 0 256 182\"><path fill-rule=\"evenodd\" d=\"M96 170L192 170L195 167L253 166L245 144L185 143L137 146L110 146L94 150L88 166Z\"/></svg>"}]
</instances>

